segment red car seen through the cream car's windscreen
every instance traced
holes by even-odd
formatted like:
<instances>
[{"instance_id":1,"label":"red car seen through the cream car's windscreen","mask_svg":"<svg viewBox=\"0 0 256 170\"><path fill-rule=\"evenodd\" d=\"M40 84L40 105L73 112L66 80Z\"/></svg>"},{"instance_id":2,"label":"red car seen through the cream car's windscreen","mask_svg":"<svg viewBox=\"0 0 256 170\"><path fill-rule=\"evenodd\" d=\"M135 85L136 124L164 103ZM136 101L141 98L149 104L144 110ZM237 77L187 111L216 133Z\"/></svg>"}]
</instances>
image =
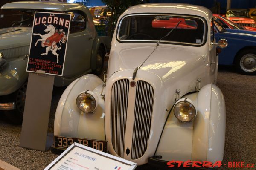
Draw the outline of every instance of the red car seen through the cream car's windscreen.
<instances>
[{"instance_id":1,"label":"red car seen through the cream car's windscreen","mask_svg":"<svg viewBox=\"0 0 256 170\"><path fill-rule=\"evenodd\" d=\"M153 28L174 28L180 22L178 28L197 29L197 23L194 20L184 18L155 18L152 21Z\"/></svg>"}]
</instances>

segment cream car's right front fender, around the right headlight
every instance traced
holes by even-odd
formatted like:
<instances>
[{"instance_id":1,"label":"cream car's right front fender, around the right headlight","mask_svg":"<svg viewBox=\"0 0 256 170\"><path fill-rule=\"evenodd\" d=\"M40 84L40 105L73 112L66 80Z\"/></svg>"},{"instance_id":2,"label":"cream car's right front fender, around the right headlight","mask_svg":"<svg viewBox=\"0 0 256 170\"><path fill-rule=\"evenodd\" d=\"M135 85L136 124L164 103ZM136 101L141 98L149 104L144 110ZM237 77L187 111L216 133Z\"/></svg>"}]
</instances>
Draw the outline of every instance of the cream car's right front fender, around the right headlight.
<instances>
[{"instance_id":1,"label":"cream car's right front fender, around the right headlight","mask_svg":"<svg viewBox=\"0 0 256 170\"><path fill-rule=\"evenodd\" d=\"M181 123L173 109L166 121L155 155L165 161L221 161L223 159L226 110L224 96L214 84L183 96L191 99L198 112L194 121Z\"/></svg>"}]
</instances>

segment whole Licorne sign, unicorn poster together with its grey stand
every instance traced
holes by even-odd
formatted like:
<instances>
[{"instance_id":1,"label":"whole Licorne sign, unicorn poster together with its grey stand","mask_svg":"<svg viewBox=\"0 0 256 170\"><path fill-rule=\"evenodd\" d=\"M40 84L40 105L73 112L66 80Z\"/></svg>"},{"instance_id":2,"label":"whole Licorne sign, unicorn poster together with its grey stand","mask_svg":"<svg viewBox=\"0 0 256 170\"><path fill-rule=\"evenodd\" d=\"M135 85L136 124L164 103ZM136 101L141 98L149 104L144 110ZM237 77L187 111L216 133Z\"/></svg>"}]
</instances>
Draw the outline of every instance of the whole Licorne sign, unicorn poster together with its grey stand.
<instances>
[{"instance_id":1,"label":"whole Licorne sign, unicorn poster together with its grey stand","mask_svg":"<svg viewBox=\"0 0 256 170\"><path fill-rule=\"evenodd\" d=\"M54 76L62 76L67 50L70 14L35 12L26 71L26 91L20 146L46 151Z\"/></svg>"}]
</instances>

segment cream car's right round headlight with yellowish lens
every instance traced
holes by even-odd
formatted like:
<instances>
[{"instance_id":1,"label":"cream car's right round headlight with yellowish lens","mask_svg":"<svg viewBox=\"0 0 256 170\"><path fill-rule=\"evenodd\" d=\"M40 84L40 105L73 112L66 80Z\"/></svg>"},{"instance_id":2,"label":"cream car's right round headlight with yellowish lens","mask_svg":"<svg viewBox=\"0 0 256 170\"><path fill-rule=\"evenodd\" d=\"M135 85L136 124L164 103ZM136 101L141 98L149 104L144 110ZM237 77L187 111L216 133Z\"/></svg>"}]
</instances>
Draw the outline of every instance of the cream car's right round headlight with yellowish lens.
<instances>
[{"instance_id":1,"label":"cream car's right round headlight with yellowish lens","mask_svg":"<svg viewBox=\"0 0 256 170\"><path fill-rule=\"evenodd\" d=\"M190 99L181 98L175 103L173 112L179 121L189 122L195 118L197 110Z\"/></svg>"}]
</instances>

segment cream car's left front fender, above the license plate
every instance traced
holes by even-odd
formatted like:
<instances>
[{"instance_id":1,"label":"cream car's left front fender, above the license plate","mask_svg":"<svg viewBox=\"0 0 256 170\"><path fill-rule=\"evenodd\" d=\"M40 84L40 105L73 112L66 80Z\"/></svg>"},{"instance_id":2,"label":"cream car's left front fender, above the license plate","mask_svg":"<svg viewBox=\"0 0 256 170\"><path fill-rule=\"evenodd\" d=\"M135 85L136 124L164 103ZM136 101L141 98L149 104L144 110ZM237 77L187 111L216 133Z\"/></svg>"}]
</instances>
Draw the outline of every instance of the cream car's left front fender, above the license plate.
<instances>
[{"instance_id":1,"label":"cream car's left front fender, above the license plate","mask_svg":"<svg viewBox=\"0 0 256 170\"><path fill-rule=\"evenodd\" d=\"M85 90L93 91L98 96L99 103L94 113L81 112L76 106L77 96ZM87 74L73 81L58 103L54 135L105 140L104 99L100 96L101 90L102 80L96 75Z\"/></svg>"}]
</instances>

